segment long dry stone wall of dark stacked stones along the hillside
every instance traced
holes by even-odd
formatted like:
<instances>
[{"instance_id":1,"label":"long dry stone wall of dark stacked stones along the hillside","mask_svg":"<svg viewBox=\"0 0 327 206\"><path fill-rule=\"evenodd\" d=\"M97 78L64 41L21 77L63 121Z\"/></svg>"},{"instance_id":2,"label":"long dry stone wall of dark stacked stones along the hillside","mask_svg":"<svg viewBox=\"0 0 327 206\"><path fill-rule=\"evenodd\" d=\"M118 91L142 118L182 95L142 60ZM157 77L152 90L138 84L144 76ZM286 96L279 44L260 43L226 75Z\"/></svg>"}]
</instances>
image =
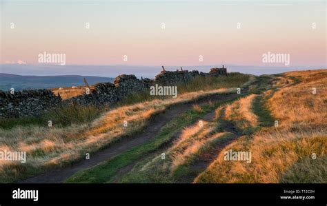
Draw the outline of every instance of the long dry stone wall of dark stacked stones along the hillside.
<instances>
[{"instance_id":1,"label":"long dry stone wall of dark stacked stones along the hillside","mask_svg":"<svg viewBox=\"0 0 327 206\"><path fill-rule=\"evenodd\" d=\"M161 71L155 80L137 79L135 75L121 74L114 83L97 83L90 87L88 94L75 96L61 101L51 90L22 90L19 92L2 92L0 90L0 118L39 116L60 104L78 103L81 105L110 105L135 92L142 92L151 85L177 85L188 83L197 76L227 75L226 68L212 68L209 73L193 70Z\"/></svg>"}]
</instances>

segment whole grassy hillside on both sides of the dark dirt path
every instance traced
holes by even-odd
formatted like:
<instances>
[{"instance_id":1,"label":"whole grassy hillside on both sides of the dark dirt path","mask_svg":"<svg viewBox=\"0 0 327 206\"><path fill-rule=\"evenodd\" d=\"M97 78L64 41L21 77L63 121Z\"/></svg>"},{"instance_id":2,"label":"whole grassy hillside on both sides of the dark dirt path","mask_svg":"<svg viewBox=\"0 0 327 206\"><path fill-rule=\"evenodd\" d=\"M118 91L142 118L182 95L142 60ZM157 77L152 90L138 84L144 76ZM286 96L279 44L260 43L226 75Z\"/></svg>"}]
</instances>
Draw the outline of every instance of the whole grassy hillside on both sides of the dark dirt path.
<instances>
[{"instance_id":1,"label":"whole grassy hillside on both sides of the dark dirt path","mask_svg":"<svg viewBox=\"0 0 327 206\"><path fill-rule=\"evenodd\" d=\"M234 73L179 85L177 99L145 92L110 108L74 105L39 119L1 121L0 150L26 151L28 162L0 162L0 181L70 167L87 152L115 150L159 125L66 183L327 183L326 88L327 70ZM226 161L230 150L251 152L250 161Z\"/></svg>"}]
</instances>

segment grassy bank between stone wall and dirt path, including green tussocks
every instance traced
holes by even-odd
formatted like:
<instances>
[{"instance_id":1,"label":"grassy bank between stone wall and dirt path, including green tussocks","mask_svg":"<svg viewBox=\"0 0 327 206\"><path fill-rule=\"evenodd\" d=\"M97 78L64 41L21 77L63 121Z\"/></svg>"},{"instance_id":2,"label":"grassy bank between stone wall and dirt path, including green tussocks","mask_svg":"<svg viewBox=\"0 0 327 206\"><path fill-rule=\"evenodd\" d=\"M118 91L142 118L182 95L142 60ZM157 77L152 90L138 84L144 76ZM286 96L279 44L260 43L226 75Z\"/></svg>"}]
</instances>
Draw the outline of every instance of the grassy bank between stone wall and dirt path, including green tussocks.
<instances>
[{"instance_id":1,"label":"grassy bank between stone wall and dirt path, including green tussocks","mask_svg":"<svg viewBox=\"0 0 327 206\"><path fill-rule=\"evenodd\" d=\"M81 161L86 153L92 154L121 138L141 132L153 116L174 105L217 94L235 94L235 89L228 87L239 87L248 80L248 75L237 73L231 74L226 85L221 82L210 85L215 90L208 89L212 82L203 83L195 87L195 92L184 92L177 99L156 97L148 101L141 99L139 103L135 99L132 104L119 103L110 108L71 105L39 118L1 120L0 150L26 151L28 161L25 164L1 161L0 181L17 181ZM48 120L52 121L52 127L48 127ZM123 121L128 121L128 127L123 127Z\"/></svg>"}]
</instances>

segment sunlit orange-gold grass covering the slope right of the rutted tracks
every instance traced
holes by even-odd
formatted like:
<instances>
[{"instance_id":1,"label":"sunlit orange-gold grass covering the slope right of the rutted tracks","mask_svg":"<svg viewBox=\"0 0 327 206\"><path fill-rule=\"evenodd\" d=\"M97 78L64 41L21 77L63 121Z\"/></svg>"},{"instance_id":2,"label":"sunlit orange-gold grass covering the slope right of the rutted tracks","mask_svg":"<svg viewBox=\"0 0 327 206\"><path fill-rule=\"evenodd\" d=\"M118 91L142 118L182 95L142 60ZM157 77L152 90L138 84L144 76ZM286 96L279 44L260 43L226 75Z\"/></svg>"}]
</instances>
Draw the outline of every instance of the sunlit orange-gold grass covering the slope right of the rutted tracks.
<instances>
[{"instance_id":1,"label":"sunlit orange-gold grass covering the slope right of the rutted tracks","mask_svg":"<svg viewBox=\"0 0 327 206\"><path fill-rule=\"evenodd\" d=\"M315 164L314 169L306 167L306 173L311 175L301 174L300 180L295 172L301 172L299 162L306 160L304 165L309 164L308 159L313 162L313 154L317 158L326 156L327 70L287 72L279 81L273 82L279 87L275 93L264 92L266 96L273 94L266 105L279 121L279 127L264 128L254 136L242 136L224 148L224 151L252 152L252 163L224 161L224 152L221 152L206 171L195 178L195 183L279 183L281 180L326 183L324 174L319 172L327 169L324 161ZM317 88L317 94L312 93L313 87ZM227 106L225 114L231 116L237 110L255 123L246 112L249 101L235 107ZM293 165L295 169L291 169ZM284 178L286 174L288 178Z\"/></svg>"}]
</instances>

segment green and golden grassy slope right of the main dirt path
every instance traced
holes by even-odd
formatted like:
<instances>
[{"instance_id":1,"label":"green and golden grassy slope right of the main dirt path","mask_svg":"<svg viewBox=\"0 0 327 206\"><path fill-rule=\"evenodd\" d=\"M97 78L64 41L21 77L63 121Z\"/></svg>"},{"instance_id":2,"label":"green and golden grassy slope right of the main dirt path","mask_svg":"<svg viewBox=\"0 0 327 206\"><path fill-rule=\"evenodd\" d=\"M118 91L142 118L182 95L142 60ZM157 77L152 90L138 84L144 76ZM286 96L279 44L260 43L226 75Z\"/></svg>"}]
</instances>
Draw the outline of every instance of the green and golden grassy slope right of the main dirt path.
<instances>
[{"instance_id":1,"label":"green and golden grassy slope right of the main dirt path","mask_svg":"<svg viewBox=\"0 0 327 206\"><path fill-rule=\"evenodd\" d=\"M66 182L326 183L327 70L260 76L249 87L240 99L194 107L184 115L196 121L179 116L147 145ZM204 120L212 110L215 116ZM162 148L162 138L172 143ZM226 161L229 150L251 152L252 160Z\"/></svg>"}]
</instances>

